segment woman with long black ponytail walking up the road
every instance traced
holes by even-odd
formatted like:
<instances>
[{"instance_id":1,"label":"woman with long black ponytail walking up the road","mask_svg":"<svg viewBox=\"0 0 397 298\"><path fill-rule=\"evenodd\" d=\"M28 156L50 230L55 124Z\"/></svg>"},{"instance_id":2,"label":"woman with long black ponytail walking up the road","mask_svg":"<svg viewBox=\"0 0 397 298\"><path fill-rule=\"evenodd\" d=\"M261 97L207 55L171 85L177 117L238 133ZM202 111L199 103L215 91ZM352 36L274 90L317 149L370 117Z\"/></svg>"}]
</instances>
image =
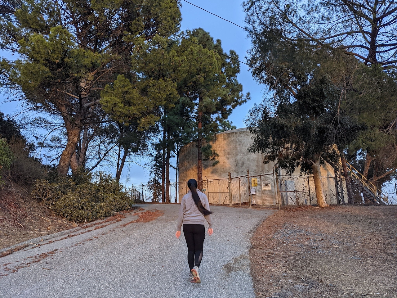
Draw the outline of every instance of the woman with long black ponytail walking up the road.
<instances>
[{"instance_id":1,"label":"woman with long black ponytail walking up the road","mask_svg":"<svg viewBox=\"0 0 397 298\"><path fill-rule=\"evenodd\" d=\"M190 190L183 196L181 201L175 236L179 239L181 226L183 225L183 234L187 244L187 262L190 269L189 281L191 283L201 283L198 267L200 267L202 260L205 238L204 219L208 223L208 235L212 235L214 232L212 229L212 211L210 211L207 196L197 190L197 181L195 179L190 179L187 182L187 187Z\"/></svg>"}]
</instances>

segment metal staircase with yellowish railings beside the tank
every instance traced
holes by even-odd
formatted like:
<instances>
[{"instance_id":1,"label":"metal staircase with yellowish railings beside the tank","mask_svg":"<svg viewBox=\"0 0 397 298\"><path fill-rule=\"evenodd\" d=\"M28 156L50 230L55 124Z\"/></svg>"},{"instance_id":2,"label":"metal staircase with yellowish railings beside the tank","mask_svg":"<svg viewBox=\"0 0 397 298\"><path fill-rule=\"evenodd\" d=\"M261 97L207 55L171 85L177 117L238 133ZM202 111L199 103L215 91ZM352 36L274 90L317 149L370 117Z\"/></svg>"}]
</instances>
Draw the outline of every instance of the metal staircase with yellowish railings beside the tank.
<instances>
[{"instance_id":1,"label":"metal staircase with yellowish railings beside the tank","mask_svg":"<svg viewBox=\"0 0 397 298\"><path fill-rule=\"evenodd\" d=\"M337 203L344 204L344 192L343 192L343 166L341 160L339 159L338 163L333 163L330 160L327 160L329 164L334 169L335 173L335 190L337 192ZM351 164L346 162L348 175L351 178L351 186L353 189L353 194L355 194L355 203L361 203L362 198L364 198L364 202L371 202L374 205L386 205L387 198L382 196L382 193L372 182L370 182L367 178L362 176L357 169L355 169Z\"/></svg>"}]
</instances>

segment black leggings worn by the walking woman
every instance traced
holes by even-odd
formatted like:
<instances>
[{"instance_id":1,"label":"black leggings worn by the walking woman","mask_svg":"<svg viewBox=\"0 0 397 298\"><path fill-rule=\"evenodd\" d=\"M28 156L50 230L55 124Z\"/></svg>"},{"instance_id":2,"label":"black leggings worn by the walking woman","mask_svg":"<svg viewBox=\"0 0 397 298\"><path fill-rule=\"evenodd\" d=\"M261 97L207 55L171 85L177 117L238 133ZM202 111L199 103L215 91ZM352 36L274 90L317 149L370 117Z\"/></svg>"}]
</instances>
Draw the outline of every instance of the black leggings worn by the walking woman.
<instances>
[{"instance_id":1,"label":"black leggings worn by the walking woman","mask_svg":"<svg viewBox=\"0 0 397 298\"><path fill-rule=\"evenodd\" d=\"M187 244L187 262L189 269L200 267L202 247L205 239L204 224L183 224L183 234Z\"/></svg>"}]
</instances>

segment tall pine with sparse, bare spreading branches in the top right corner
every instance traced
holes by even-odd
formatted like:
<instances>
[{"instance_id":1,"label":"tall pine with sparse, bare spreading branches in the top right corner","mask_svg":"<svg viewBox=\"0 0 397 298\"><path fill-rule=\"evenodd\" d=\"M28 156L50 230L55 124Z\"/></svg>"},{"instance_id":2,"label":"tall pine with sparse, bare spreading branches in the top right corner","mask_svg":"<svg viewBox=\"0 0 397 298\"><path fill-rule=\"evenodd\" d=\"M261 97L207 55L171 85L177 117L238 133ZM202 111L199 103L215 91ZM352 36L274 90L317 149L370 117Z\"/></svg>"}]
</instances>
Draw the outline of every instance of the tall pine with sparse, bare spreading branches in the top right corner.
<instances>
[{"instance_id":1,"label":"tall pine with sparse, bare spreading branches in the top right corner","mask_svg":"<svg viewBox=\"0 0 397 298\"><path fill-rule=\"evenodd\" d=\"M374 118L388 122L385 124L378 121L378 127L375 127L374 121L366 122L362 117L362 114L365 114L364 110L371 109L372 101L366 96L369 94L368 89L372 88L374 91L377 89L374 82L380 81L376 79L375 74L372 74L372 79L367 76L368 86L363 88L357 78L364 69L367 75L376 72L375 69L380 69L385 75L393 76L397 66L396 3L394 0L244 2L247 29L253 41L249 52L252 74L258 81L268 84L271 90L276 91L272 105L277 107L280 104L281 89L288 94L291 102L297 101L298 93L304 86L302 83L310 84L310 81L315 79L315 73L322 69L324 74L333 74L330 79L334 88L339 90L340 100L335 103L338 117L344 114L350 118L349 121L355 122L351 122L350 126L360 127L355 130L359 132L358 138L351 139L355 141L353 144L356 150L371 152L371 146L368 145L374 142L374 138L378 139L378 145L385 139L395 139L395 132L384 128L394 122L395 108L392 108L391 112L382 109L372 110ZM348 62L348 57L353 60ZM332 58L333 62L327 62L325 66L324 59L330 60L329 58ZM339 78L335 76L338 71ZM378 87L380 85L382 84ZM390 97L388 101L393 105ZM389 104L387 106L390 106ZM394 118L390 114L394 114ZM344 125L350 127L349 124ZM364 130L364 127L367 129ZM361 141L357 141L358 139ZM392 143L383 144L385 146L380 147L385 149ZM338 144L342 158L343 151L349 146L352 148L351 144L346 142ZM379 153L382 150L372 151L373 155L377 155L373 157L374 160L380 157ZM369 164L368 154L365 164ZM393 170L393 167L378 174L390 174L390 170Z\"/></svg>"}]
</instances>

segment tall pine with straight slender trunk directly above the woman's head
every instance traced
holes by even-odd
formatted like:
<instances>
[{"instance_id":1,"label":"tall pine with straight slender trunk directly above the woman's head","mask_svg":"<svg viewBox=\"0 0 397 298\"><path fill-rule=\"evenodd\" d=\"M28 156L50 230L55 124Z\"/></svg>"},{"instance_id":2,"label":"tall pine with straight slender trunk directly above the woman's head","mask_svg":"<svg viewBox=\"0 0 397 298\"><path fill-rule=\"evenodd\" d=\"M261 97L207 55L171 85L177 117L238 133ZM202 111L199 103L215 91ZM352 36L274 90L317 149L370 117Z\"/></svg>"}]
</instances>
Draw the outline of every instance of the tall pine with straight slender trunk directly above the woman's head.
<instances>
[{"instance_id":1,"label":"tall pine with straight slender trunk directly above the woman's head","mask_svg":"<svg viewBox=\"0 0 397 298\"><path fill-rule=\"evenodd\" d=\"M187 31L186 36L195 43L182 40L177 54L182 59L178 92L191 102L191 117L195 120L194 134L197 139L197 181L202 188L203 141L210 142L220 131L220 123L229 117L233 109L249 99L244 97L243 87L237 81L240 72L238 55L230 50L225 54L221 41L215 42L201 28ZM231 57L231 58L228 58ZM210 146L207 145L206 151ZM205 158L205 157L204 157Z\"/></svg>"}]
</instances>

